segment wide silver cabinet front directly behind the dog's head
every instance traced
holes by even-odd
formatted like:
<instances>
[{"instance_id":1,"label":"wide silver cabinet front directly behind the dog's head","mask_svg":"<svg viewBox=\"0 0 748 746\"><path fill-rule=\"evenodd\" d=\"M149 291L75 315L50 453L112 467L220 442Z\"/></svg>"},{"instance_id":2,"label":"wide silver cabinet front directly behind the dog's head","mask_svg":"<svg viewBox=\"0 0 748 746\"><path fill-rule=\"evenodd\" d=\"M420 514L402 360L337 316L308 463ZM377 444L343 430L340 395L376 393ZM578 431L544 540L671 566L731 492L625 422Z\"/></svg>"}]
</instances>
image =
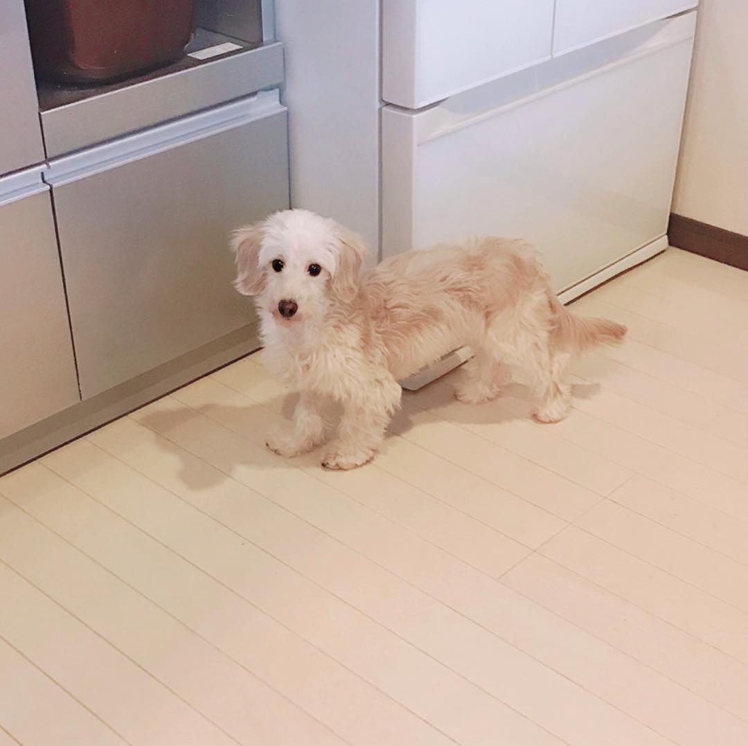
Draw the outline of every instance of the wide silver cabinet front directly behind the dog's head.
<instances>
[{"instance_id":1,"label":"wide silver cabinet front directly behind the dog's head","mask_svg":"<svg viewBox=\"0 0 748 746\"><path fill-rule=\"evenodd\" d=\"M227 236L288 205L286 112L172 142L52 178L84 398L254 320Z\"/></svg>"}]
</instances>

